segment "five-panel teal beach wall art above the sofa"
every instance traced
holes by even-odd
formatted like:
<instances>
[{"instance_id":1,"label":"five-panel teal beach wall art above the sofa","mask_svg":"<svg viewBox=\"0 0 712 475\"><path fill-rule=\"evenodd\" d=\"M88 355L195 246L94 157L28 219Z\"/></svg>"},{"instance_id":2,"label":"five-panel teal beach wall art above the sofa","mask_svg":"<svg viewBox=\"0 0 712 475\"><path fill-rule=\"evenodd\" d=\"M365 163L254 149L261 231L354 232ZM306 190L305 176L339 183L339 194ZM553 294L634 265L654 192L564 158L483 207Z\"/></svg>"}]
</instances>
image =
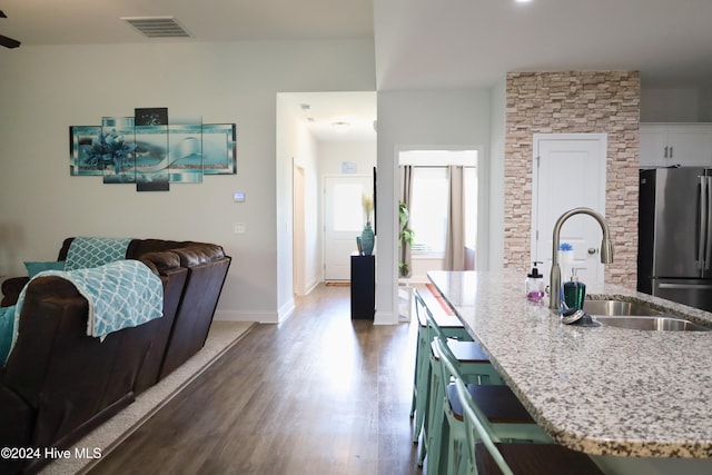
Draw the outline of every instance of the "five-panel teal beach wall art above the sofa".
<instances>
[{"instance_id":1,"label":"five-panel teal beach wall art above the sofa","mask_svg":"<svg viewBox=\"0 0 712 475\"><path fill-rule=\"evenodd\" d=\"M135 109L134 117L70 127L69 169L102 176L105 184L136 184L138 191L166 191L170 184L202 182L205 175L235 175L236 137L235 123L169 122L167 108Z\"/></svg>"}]
</instances>

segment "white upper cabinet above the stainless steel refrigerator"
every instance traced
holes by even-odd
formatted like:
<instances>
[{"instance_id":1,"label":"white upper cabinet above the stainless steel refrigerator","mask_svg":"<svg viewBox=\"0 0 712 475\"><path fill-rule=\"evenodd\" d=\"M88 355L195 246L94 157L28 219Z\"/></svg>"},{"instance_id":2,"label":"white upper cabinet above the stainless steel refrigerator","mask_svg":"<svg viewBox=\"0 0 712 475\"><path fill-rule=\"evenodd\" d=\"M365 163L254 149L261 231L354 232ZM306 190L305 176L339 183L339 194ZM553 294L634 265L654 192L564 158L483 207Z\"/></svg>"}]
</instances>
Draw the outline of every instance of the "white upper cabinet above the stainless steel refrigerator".
<instances>
[{"instance_id":1,"label":"white upper cabinet above the stainless steel refrigerator","mask_svg":"<svg viewBox=\"0 0 712 475\"><path fill-rule=\"evenodd\" d=\"M640 167L712 167L712 123L641 123Z\"/></svg>"}]
</instances>

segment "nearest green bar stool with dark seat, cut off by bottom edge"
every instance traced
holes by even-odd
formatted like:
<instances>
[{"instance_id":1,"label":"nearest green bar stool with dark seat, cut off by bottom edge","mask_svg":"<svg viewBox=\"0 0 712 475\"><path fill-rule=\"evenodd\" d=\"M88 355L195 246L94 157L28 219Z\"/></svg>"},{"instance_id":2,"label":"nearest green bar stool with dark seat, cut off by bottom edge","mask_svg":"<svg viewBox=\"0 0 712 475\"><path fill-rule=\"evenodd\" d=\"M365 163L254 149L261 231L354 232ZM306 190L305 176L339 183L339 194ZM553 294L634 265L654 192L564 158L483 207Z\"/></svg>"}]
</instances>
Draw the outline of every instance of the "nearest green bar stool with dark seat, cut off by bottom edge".
<instances>
[{"instance_id":1,"label":"nearest green bar stool with dark seat, cut off by bottom edge","mask_svg":"<svg viewBox=\"0 0 712 475\"><path fill-rule=\"evenodd\" d=\"M603 472L585 454L557 444L506 443L497 427L482 417L465 382L455 378L456 397L462 403L465 438L459 441L462 455L458 473L527 475L602 475Z\"/></svg>"}]
</instances>

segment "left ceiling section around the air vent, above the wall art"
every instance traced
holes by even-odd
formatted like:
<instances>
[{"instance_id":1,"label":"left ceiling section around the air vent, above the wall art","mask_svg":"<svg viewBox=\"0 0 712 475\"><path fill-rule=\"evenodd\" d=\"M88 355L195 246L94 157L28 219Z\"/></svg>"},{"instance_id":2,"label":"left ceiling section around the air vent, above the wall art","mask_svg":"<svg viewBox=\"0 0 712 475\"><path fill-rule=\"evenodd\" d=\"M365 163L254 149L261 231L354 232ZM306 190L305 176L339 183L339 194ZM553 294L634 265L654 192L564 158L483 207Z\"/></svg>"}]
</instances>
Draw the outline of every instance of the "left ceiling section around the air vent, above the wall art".
<instances>
[{"instance_id":1,"label":"left ceiling section around the air vent, above the wall art","mask_svg":"<svg viewBox=\"0 0 712 475\"><path fill-rule=\"evenodd\" d=\"M0 0L23 44L149 42L121 17L175 17L192 41L373 37L370 0ZM179 40L185 41L185 40Z\"/></svg>"}]
</instances>

